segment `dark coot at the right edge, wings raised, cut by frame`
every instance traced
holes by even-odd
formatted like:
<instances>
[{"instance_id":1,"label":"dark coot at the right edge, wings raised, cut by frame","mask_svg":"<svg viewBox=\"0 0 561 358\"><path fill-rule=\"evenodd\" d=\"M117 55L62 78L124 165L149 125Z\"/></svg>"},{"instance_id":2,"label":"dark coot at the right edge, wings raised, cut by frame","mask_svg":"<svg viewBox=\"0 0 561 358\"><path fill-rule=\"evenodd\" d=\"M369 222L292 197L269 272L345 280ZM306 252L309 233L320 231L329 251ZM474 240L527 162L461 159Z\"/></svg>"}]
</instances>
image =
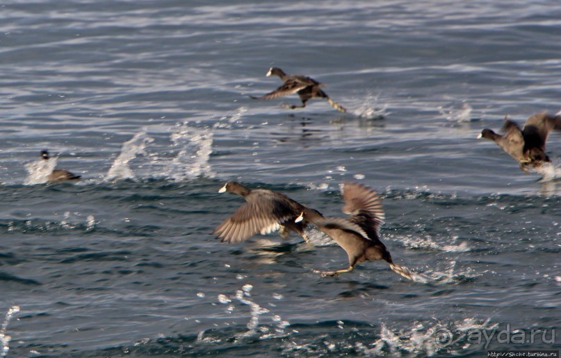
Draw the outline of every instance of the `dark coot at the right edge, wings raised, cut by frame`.
<instances>
[{"instance_id":1,"label":"dark coot at the right edge, wings raised, cut by frame","mask_svg":"<svg viewBox=\"0 0 561 358\"><path fill-rule=\"evenodd\" d=\"M551 162L545 153L547 137L551 130L561 130L561 115L539 112L528 117L522 129L507 116L501 134L485 128L478 138L491 139L517 160L520 169L528 171L528 167L539 168L544 163Z\"/></svg>"}]
</instances>

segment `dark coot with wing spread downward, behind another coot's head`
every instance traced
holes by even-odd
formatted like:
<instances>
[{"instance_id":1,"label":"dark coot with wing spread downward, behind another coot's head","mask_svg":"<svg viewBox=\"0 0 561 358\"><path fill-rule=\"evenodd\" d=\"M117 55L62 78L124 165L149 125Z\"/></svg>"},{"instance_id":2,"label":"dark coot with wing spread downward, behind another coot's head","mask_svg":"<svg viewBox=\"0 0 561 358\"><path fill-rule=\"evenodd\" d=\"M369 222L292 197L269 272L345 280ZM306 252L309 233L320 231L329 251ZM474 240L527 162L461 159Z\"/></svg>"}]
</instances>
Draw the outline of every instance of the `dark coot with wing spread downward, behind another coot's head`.
<instances>
[{"instance_id":1,"label":"dark coot with wing spread downward, behind another coot's head","mask_svg":"<svg viewBox=\"0 0 561 358\"><path fill-rule=\"evenodd\" d=\"M304 205L277 191L248 189L239 182L227 182L218 190L219 193L225 191L243 196L246 203L214 230L213 234L222 239L222 242L241 242L258 232L266 235L277 230L285 239L293 231L308 241L304 233L306 223L295 222L296 217L304 210Z\"/></svg>"}]
</instances>

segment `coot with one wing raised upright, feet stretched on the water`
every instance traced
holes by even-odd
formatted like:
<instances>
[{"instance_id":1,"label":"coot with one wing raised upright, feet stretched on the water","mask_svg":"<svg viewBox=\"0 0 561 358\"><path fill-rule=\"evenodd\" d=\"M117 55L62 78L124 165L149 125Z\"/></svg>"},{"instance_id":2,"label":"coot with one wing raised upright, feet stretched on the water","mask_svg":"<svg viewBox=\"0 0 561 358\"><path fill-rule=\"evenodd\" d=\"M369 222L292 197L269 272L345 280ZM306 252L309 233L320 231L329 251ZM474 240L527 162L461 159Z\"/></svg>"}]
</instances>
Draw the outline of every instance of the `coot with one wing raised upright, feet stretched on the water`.
<instances>
[{"instance_id":1,"label":"coot with one wing raised upright, feet stretched on the water","mask_svg":"<svg viewBox=\"0 0 561 358\"><path fill-rule=\"evenodd\" d=\"M345 200L342 210L348 214L347 218L325 217L317 210L305 208L296 219L297 222L305 219L316 225L348 255L348 269L316 272L324 276L336 276L352 271L361 262L383 259L389 263L392 271L412 280L409 270L394 263L386 246L380 241L380 226L384 221L380 196L374 190L356 182L343 183L341 194Z\"/></svg>"}]
</instances>

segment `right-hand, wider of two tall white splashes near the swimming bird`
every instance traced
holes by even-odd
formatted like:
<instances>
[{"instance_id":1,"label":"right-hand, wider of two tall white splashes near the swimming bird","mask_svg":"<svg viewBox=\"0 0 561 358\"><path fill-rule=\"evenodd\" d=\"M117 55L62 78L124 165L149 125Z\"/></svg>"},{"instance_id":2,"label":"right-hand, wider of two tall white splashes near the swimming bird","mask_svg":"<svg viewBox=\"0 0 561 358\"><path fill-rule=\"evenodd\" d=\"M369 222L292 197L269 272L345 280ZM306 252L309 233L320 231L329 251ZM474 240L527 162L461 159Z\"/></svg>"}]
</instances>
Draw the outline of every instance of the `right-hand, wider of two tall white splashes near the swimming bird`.
<instances>
[{"instance_id":1,"label":"right-hand, wider of two tall white splashes near the swimming bird","mask_svg":"<svg viewBox=\"0 0 561 358\"><path fill-rule=\"evenodd\" d=\"M208 128L190 127L187 123L178 126L170 135L172 146L180 148L168 163L170 178L177 181L198 178L214 178L209 160L212 153L213 133Z\"/></svg>"}]
</instances>

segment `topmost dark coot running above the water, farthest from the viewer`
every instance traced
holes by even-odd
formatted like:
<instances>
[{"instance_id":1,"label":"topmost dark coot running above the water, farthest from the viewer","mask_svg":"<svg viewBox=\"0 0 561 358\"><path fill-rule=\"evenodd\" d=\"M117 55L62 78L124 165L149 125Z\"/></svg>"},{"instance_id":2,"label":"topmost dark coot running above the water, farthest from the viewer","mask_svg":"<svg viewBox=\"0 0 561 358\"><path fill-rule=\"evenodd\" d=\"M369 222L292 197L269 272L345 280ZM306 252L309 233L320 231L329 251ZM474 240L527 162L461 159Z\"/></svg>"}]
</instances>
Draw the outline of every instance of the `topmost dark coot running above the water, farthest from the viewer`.
<instances>
[{"instance_id":1,"label":"topmost dark coot running above the water, farthest from the viewer","mask_svg":"<svg viewBox=\"0 0 561 358\"><path fill-rule=\"evenodd\" d=\"M275 89L273 92L269 92L260 97L250 96L252 99L276 99L277 97L288 96L288 94L298 94L300 97L300 101L302 101L302 105L283 105L284 108L288 109L295 109L295 108L304 108L306 107L306 102L309 99L313 98L320 98L320 99L327 99L327 102L332 105L333 108L339 110L343 113L347 112L342 105L339 103L335 103L330 99L330 96L327 96L320 86L323 85L318 81L314 80L314 78L309 78L307 76L300 76L300 75L287 75L279 69L278 67L271 67L267 72L267 76L276 75L284 81L284 83Z\"/></svg>"}]
</instances>

